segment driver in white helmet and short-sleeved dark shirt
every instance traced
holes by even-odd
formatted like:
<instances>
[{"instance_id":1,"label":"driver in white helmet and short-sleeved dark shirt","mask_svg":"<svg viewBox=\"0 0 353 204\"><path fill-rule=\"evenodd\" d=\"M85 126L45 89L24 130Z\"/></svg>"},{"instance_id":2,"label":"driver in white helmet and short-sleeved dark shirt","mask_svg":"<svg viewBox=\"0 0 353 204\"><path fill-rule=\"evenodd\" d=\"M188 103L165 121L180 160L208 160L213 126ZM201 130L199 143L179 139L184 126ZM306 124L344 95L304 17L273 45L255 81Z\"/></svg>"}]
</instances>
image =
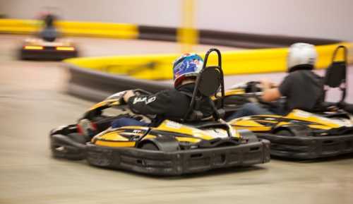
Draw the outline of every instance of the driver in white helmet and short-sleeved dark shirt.
<instances>
[{"instance_id":1,"label":"driver in white helmet and short-sleeved dark shirt","mask_svg":"<svg viewBox=\"0 0 353 204\"><path fill-rule=\"evenodd\" d=\"M316 62L316 49L312 44L294 43L289 47L287 56L288 75L280 85L274 85L269 80L261 81L263 87L263 102L273 102L285 97L284 107L266 109L258 103L246 103L237 112L227 118L228 121L242 116L260 114L285 115L293 109L315 111L323 103L323 80L313 72Z\"/></svg>"}]
</instances>

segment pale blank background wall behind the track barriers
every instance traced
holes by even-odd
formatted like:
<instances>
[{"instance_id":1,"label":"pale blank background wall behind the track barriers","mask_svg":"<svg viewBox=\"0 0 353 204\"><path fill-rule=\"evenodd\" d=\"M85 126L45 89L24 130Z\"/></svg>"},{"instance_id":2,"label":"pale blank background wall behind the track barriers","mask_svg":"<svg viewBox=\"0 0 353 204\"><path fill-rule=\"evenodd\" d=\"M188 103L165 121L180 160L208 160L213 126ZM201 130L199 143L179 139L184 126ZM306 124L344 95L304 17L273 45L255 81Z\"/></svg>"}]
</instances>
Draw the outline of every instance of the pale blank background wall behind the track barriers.
<instances>
[{"instance_id":1,"label":"pale blank background wall behind the track barriers","mask_svg":"<svg viewBox=\"0 0 353 204\"><path fill-rule=\"evenodd\" d=\"M9 18L52 6L65 20L176 27L181 0L0 0ZM353 41L352 0L195 0L196 28Z\"/></svg>"}]
</instances>

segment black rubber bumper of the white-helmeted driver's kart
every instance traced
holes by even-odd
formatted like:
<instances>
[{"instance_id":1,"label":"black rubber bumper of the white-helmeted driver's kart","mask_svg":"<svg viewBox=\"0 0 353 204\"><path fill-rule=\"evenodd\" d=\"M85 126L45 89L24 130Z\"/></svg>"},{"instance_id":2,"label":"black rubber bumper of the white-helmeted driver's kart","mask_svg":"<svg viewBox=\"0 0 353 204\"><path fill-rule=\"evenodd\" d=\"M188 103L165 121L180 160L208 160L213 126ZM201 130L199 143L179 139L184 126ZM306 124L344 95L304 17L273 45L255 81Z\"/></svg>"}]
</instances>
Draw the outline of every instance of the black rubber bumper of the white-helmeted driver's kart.
<instances>
[{"instance_id":1,"label":"black rubber bumper of the white-helmeted driver's kart","mask_svg":"<svg viewBox=\"0 0 353 204\"><path fill-rule=\"evenodd\" d=\"M270 140L271 155L283 158L311 160L353 152L353 135L289 137L258 133L256 136Z\"/></svg>"}]
</instances>

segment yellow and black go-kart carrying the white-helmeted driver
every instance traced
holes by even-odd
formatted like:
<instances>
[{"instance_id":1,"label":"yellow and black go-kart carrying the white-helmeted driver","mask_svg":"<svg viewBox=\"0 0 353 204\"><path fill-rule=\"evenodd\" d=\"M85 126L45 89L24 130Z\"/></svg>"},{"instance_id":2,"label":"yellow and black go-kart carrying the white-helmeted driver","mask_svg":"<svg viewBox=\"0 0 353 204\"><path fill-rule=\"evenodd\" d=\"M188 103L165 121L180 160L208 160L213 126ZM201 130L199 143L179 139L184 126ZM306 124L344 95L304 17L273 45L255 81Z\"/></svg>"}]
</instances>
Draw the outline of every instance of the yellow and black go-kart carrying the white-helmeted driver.
<instances>
[{"instance_id":1,"label":"yellow and black go-kart carrying the white-helmeted driver","mask_svg":"<svg viewBox=\"0 0 353 204\"><path fill-rule=\"evenodd\" d=\"M345 59L335 61L337 50L343 49ZM318 112L294 109L285 116L255 115L229 121L236 129L249 129L258 138L271 142L271 155L293 159L314 159L353 152L352 104L345 103L347 49L337 47L333 63L323 78L326 88L340 88L339 102L324 102ZM261 87L250 82L225 93L225 109L228 114L237 111L245 102L260 102ZM277 105L276 103L263 104Z\"/></svg>"}]
</instances>

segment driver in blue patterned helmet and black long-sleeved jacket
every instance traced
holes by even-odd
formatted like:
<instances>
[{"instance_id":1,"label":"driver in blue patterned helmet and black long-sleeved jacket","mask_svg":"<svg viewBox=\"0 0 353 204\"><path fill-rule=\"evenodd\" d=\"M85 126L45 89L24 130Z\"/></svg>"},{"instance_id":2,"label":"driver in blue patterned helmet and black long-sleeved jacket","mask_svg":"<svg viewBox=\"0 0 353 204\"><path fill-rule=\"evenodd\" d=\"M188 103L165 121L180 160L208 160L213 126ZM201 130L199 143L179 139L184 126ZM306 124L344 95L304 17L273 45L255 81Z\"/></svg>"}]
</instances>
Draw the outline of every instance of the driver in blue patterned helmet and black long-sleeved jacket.
<instances>
[{"instance_id":1,"label":"driver in blue patterned helmet and black long-sleeved jacket","mask_svg":"<svg viewBox=\"0 0 353 204\"><path fill-rule=\"evenodd\" d=\"M195 80L203 67L203 59L198 54L183 54L173 64L174 90L163 90L152 95L135 95L128 90L124 101L136 114L155 115L152 124L164 119L183 119L188 111ZM204 116L212 114L212 107L205 101L199 111ZM148 126L149 124L131 118L119 118L112 122L112 128L122 126Z\"/></svg>"}]
</instances>

